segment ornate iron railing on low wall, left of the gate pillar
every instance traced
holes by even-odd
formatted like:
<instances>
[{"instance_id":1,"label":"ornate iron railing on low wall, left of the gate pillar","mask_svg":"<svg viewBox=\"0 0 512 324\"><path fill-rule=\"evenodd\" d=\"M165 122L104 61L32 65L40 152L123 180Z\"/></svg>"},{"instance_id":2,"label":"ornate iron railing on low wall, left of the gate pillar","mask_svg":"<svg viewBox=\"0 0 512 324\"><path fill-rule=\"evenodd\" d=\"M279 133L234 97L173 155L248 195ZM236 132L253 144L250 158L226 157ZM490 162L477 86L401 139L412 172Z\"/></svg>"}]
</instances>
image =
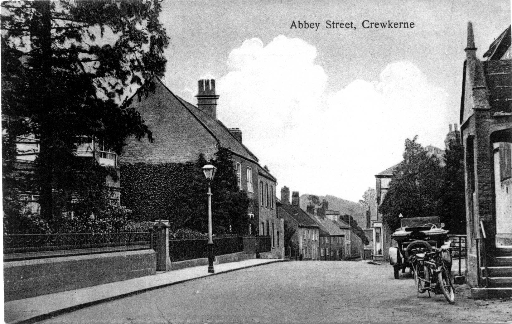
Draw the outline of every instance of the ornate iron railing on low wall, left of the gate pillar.
<instances>
[{"instance_id":1,"label":"ornate iron railing on low wall, left of the gate pillar","mask_svg":"<svg viewBox=\"0 0 512 324\"><path fill-rule=\"evenodd\" d=\"M150 248L150 232L5 234L4 261Z\"/></svg>"}]
</instances>

